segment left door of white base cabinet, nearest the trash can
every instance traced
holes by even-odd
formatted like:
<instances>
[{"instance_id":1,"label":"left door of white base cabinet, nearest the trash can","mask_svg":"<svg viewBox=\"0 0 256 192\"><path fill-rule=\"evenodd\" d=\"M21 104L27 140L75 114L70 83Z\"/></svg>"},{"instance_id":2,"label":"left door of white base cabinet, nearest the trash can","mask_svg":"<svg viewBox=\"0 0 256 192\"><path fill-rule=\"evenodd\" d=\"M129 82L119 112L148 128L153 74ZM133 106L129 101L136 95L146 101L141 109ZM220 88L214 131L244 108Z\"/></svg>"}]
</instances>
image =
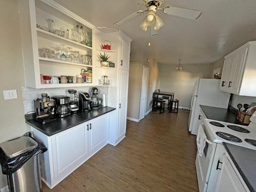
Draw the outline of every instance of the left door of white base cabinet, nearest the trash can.
<instances>
[{"instance_id":1,"label":"left door of white base cabinet, nearest the trash can","mask_svg":"<svg viewBox=\"0 0 256 192\"><path fill-rule=\"evenodd\" d=\"M54 177L69 173L76 161L85 159L88 153L86 124L75 126L52 137Z\"/></svg>"}]
</instances>

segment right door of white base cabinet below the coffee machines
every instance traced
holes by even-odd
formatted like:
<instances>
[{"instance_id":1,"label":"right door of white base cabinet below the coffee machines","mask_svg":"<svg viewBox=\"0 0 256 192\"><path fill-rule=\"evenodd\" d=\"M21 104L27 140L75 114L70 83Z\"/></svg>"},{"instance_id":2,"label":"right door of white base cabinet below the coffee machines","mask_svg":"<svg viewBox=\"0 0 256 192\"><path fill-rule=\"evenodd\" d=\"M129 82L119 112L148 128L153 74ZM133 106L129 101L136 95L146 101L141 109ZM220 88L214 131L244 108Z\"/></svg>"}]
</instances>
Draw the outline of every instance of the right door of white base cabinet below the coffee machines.
<instances>
[{"instance_id":1,"label":"right door of white base cabinet below the coffee machines","mask_svg":"<svg viewBox=\"0 0 256 192\"><path fill-rule=\"evenodd\" d=\"M104 146L108 140L109 116L102 115L88 123L89 128L89 153L92 155Z\"/></svg>"}]
</instances>

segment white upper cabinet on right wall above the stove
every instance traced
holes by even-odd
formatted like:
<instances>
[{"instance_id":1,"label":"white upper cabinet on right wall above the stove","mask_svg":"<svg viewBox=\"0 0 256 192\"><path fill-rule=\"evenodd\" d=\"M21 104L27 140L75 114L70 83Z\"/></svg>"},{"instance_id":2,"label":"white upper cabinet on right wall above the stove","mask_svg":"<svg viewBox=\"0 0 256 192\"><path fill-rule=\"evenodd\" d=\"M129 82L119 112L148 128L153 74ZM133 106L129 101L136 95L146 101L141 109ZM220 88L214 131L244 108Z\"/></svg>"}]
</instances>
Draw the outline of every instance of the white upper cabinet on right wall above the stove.
<instances>
[{"instance_id":1,"label":"white upper cabinet on right wall above the stove","mask_svg":"<svg viewBox=\"0 0 256 192\"><path fill-rule=\"evenodd\" d=\"M225 56L220 90L256 96L256 41L250 41Z\"/></svg>"}]
</instances>

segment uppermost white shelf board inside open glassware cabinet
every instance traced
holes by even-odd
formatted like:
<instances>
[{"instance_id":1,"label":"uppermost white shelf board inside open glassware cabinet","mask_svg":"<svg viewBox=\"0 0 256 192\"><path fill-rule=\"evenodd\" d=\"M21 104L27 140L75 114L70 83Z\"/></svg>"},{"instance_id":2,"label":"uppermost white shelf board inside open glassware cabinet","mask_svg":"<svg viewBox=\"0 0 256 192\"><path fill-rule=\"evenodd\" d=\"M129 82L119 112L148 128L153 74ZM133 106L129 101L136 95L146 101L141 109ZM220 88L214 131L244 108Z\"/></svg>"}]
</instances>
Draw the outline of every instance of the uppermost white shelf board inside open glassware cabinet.
<instances>
[{"instance_id":1,"label":"uppermost white shelf board inside open glassware cabinet","mask_svg":"<svg viewBox=\"0 0 256 192\"><path fill-rule=\"evenodd\" d=\"M63 44L69 44L70 46L80 46L82 48L86 48L86 49L90 49L90 50L93 49L89 46L80 44L79 42L70 40L70 39L65 38L65 37L61 37L59 35L55 35L55 34L50 33L48 31L45 31L45 30L42 30L42 29L39 29L39 28L36 28L36 30L37 30L37 36L39 36L39 37L46 38L46 39L53 40L53 41L57 41L57 39L58 39L58 41L63 43Z\"/></svg>"}]
</instances>

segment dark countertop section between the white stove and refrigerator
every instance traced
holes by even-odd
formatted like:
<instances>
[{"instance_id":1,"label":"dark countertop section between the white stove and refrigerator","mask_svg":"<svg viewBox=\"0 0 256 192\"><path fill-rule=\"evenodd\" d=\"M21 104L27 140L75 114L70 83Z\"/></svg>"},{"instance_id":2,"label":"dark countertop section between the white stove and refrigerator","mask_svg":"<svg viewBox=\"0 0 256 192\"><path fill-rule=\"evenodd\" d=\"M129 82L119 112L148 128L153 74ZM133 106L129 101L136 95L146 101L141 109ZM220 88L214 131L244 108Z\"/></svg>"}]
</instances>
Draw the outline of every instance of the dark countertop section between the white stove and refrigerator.
<instances>
[{"instance_id":1,"label":"dark countertop section between the white stove and refrigerator","mask_svg":"<svg viewBox=\"0 0 256 192\"><path fill-rule=\"evenodd\" d=\"M240 125L247 125L237 120L237 111L234 108L233 110L228 110L225 108L216 108L214 106L206 106L206 105L200 105L200 108L202 109L207 119L223 121L227 123L240 124Z\"/></svg>"}]
</instances>

